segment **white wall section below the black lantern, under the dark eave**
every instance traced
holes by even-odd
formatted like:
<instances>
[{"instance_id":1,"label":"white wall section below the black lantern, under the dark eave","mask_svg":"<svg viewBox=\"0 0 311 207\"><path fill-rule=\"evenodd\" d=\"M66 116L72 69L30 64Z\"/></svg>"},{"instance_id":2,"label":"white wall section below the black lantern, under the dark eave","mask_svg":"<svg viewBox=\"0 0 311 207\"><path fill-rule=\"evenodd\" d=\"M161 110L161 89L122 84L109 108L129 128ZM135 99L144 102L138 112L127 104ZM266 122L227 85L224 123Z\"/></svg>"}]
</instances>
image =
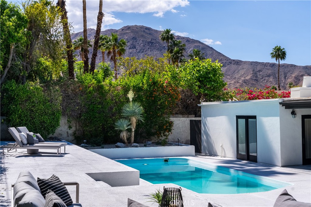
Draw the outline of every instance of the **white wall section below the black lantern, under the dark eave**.
<instances>
[{"instance_id":1,"label":"white wall section below the black lantern, under the dark eave","mask_svg":"<svg viewBox=\"0 0 311 207\"><path fill-rule=\"evenodd\" d=\"M281 131L281 165L302 164L302 121L301 115L311 114L310 109L295 109L297 114L293 119L290 112L280 106Z\"/></svg>"}]
</instances>

